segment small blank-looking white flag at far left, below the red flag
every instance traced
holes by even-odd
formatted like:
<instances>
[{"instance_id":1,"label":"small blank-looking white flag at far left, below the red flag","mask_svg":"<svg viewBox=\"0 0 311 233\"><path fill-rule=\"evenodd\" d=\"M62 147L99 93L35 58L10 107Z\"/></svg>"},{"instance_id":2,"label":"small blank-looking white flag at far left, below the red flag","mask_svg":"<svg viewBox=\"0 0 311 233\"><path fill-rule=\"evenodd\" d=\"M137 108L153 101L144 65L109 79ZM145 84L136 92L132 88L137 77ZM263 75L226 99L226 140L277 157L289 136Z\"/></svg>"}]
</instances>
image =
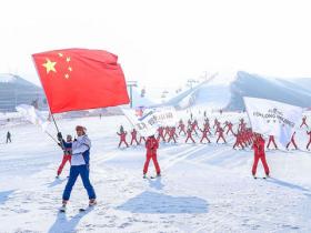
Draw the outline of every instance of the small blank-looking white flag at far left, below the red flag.
<instances>
[{"instance_id":1,"label":"small blank-looking white flag at far left, below the red flag","mask_svg":"<svg viewBox=\"0 0 311 233\"><path fill-rule=\"evenodd\" d=\"M43 132L47 131L50 122L42 114L42 112L34 109L34 107L27 104L20 104L16 109L27 121L30 121L34 125L41 126Z\"/></svg>"}]
</instances>

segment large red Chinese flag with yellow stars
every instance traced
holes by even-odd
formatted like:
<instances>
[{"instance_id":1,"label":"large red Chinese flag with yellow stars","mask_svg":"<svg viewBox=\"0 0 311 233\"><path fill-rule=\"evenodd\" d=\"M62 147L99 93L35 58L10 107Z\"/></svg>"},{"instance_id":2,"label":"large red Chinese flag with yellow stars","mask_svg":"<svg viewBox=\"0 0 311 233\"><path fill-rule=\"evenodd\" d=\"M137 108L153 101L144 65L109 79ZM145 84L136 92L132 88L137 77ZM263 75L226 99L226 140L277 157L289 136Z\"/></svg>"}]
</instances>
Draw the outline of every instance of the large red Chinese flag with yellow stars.
<instances>
[{"instance_id":1,"label":"large red Chinese flag with yellow stars","mask_svg":"<svg viewBox=\"0 0 311 233\"><path fill-rule=\"evenodd\" d=\"M130 102L123 71L112 53L64 49L32 57L51 113Z\"/></svg>"}]
</instances>

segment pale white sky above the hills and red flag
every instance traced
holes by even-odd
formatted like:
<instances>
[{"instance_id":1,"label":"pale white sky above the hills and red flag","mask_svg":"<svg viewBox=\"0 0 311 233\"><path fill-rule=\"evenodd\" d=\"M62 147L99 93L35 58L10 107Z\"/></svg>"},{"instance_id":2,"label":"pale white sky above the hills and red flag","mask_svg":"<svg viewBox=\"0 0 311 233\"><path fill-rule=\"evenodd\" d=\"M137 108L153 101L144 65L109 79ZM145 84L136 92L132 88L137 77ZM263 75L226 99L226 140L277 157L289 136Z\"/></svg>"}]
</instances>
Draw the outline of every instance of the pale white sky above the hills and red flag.
<instances>
[{"instance_id":1,"label":"pale white sky above the hills and red flag","mask_svg":"<svg viewBox=\"0 0 311 233\"><path fill-rule=\"evenodd\" d=\"M203 71L311 77L310 2L3 0L0 72L38 84L32 53L89 48L118 54L127 80L148 88Z\"/></svg>"}]
</instances>

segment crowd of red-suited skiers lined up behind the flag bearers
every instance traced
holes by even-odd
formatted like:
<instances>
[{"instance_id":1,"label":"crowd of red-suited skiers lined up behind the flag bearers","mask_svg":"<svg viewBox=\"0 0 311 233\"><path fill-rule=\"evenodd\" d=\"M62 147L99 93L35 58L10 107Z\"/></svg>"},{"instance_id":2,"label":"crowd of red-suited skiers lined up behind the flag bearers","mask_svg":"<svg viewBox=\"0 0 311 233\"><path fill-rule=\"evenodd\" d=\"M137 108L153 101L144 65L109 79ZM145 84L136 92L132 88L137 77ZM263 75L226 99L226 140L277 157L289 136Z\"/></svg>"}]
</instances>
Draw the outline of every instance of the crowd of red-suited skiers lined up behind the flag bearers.
<instances>
[{"instance_id":1,"label":"crowd of red-suited skiers lined up behind the flag bearers","mask_svg":"<svg viewBox=\"0 0 311 233\"><path fill-rule=\"evenodd\" d=\"M225 136L232 134L233 136L235 136L235 142L233 144L233 149L237 148L241 148L244 149L247 145L250 144L250 139L252 136L252 131L250 128L247 128L247 123L244 122L243 119L240 119L240 122L238 124L238 131L237 133L233 132L233 123L230 121L225 121L223 123L224 125L222 126L222 123L218 120L214 119L214 123L211 126L210 125L210 120L208 118L204 119L204 123L202 125L202 129L200 129L199 123L197 120L194 120L193 122L191 120L188 120L188 125L185 126L185 124L183 123L182 120L179 121L179 125L178 128L175 126L159 126L158 129L158 135L157 139L159 142L173 142L177 143L177 138L179 138L181 134L185 135L185 143L188 143L188 141L195 143L195 140L193 138L193 135L199 136L198 132L201 132L201 139L200 139L200 143L203 143L204 141L207 141L208 143L211 143L210 140L210 135L212 135L211 129L214 129L214 134L218 136L217 138L217 143L219 142L224 142L225 141ZM302 119L302 123L300 125L300 128L302 126L308 126L307 124L307 116L304 116ZM119 148L124 144L127 148L129 148L130 145L133 144L141 144L143 142L146 142L146 138L138 135L138 131L136 129L133 129L130 134L131 134L131 141L130 143L127 142L127 135L128 132L124 131L124 128L121 125L120 126L120 131L117 132L117 134L120 136L120 142L119 142ZM309 136L309 141L307 143L307 150L309 150L309 146L311 144L311 130L307 131L307 135ZM139 136L139 138L138 138ZM287 149L290 148L290 145L293 145L295 150L298 150L298 145L295 142L295 132L293 132L291 140L288 142L287 144ZM269 135L269 140L268 140L268 144L267 144L267 149L278 149L275 139L273 135Z\"/></svg>"}]
</instances>

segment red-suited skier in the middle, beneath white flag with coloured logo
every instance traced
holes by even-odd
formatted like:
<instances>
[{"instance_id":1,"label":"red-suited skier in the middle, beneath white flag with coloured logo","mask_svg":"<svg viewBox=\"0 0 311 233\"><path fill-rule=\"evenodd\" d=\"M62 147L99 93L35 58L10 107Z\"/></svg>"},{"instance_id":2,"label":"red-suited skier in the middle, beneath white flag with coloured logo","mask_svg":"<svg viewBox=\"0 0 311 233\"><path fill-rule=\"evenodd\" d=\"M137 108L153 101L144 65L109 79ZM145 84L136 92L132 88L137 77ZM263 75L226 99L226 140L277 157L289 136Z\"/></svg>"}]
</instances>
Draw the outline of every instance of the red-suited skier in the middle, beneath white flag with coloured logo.
<instances>
[{"instance_id":1,"label":"red-suited skier in the middle, beneath white flag with coloured logo","mask_svg":"<svg viewBox=\"0 0 311 233\"><path fill-rule=\"evenodd\" d=\"M148 136L147 141L146 141L146 149L147 149L147 158L146 158L146 162L143 165L143 178L146 179L146 174L148 172L148 166L149 166L149 162L152 159L153 164L156 166L156 171L157 171L157 176L161 176L161 170L160 170L160 165L158 163L158 159L157 159L157 150L159 148L159 142L158 140L154 138L154 135Z\"/></svg>"}]
</instances>

